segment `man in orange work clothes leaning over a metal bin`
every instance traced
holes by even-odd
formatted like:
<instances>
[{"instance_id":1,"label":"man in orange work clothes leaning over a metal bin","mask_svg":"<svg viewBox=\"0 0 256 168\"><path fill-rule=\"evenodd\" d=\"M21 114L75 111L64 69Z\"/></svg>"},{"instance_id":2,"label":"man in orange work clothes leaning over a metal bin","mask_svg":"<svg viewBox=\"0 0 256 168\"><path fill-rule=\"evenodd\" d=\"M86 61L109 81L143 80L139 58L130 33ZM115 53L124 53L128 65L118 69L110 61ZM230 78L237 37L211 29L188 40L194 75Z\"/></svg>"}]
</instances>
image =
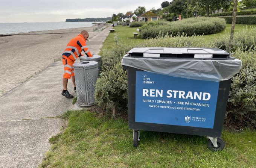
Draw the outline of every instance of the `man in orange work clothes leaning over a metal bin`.
<instances>
[{"instance_id":1,"label":"man in orange work clothes leaning over a metal bin","mask_svg":"<svg viewBox=\"0 0 256 168\"><path fill-rule=\"evenodd\" d=\"M62 79L63 83L63 91L62 95L64 95L67 98L73 98L73 95L67 91L67 82L70 78L72 78L72 82L74 85L74 90L76 92L76 82L75 82L75 74L73 69L73 64L76 61L76 59L81 55L81 52L84 51L84 53L91 57L92 54L86 47L86 40L89 37L89 33L86 30L82 30L82 32L76 36L75 38L71 39L69 43L67 44L67 47L62 54L62 62L64 65L64 75Z\"/></svg>"}]
</instances>

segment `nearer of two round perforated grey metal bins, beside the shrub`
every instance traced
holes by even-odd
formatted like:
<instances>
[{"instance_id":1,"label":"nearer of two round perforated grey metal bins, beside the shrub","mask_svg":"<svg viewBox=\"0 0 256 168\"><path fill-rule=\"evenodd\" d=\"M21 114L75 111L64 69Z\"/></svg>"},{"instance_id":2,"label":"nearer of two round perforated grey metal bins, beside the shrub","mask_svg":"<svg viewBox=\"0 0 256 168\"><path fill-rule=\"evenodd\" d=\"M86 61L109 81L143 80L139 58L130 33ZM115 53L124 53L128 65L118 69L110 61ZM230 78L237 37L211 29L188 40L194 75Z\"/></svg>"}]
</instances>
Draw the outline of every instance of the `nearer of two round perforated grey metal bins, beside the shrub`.
<instances>
[{"instance_id":1,"label":"nearer of two round perforated grey metal bins, beside the shrub","mask_svg":"<svg viewBox=\"0 0 256 168\"><path fill-rule=\"evenodd\" d=\"M73 64L76 95L79 106L94 105L94 84L98 77L98 62L83 61Z\"/></svg>"}]
</instances>

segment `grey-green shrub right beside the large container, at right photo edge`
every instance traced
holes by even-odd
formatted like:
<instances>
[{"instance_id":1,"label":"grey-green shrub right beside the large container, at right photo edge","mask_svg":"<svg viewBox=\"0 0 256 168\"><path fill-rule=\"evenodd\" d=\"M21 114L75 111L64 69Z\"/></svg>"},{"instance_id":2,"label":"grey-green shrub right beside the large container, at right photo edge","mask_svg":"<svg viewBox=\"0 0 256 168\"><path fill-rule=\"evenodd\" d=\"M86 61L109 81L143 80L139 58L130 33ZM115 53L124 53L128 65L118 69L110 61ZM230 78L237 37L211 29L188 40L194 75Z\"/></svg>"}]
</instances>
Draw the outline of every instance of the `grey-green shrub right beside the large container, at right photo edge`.
<instances>
[{"instance_id":1,"label":"grey-green shrub right beside the large container, at right photo edge","mask_svg":"<svg viewBox=\"0 0 256 168\"><path fill-rule=\"evenodd\" d=\"M233 54L242 60L242 68L232 79L226 124L256 128L256 50L238 48Z\"/></svg>"}]
</instances>

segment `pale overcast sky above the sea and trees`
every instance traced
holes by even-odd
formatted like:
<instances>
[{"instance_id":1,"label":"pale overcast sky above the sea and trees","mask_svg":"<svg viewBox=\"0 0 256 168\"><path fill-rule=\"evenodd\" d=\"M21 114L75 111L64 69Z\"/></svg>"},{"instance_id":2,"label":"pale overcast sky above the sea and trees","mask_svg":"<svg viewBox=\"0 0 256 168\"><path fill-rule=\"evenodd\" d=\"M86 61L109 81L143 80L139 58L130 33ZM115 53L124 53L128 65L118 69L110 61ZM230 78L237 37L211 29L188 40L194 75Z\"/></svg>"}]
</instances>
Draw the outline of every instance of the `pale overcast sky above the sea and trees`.
<instances>
[{"instance_id":1,"label":"pale overcast sky above the sea and trees","mask_svg":"<svg viewBox=\"0 0 256 168\"><path fill-rule=\"evenodd\" d=\"M60 22L104 18L134 11L138 6L161 8L165 0L0 0L0 23Z\"/></svg>"}]
</instances>

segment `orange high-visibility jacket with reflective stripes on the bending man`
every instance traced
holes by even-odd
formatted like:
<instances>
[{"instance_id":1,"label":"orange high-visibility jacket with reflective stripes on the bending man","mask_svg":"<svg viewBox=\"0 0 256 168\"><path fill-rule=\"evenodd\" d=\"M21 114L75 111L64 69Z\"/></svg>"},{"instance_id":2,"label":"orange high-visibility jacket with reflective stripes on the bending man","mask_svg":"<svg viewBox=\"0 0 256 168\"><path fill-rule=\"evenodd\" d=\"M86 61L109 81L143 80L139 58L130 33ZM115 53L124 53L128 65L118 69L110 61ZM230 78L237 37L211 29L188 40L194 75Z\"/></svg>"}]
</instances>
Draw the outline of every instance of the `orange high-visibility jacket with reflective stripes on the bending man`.
<instances>
[{"instance_id":1,"label":"orange high-visibility jacket with reflective stripes on the bending man","mask_svg":"<svg viewBox=\"0 0 256 168\"><path fill-rule=\"evenodd\" d=\"M76 61L76 59L81 55L81 52L84 51L84 53L91 57L92 54L86 47L86 42L84 37L79 34L75 38L71 39L69 43L67 44L67 47L62 55L67 56L69 59Z\"/></svg>"}]
</instances>

